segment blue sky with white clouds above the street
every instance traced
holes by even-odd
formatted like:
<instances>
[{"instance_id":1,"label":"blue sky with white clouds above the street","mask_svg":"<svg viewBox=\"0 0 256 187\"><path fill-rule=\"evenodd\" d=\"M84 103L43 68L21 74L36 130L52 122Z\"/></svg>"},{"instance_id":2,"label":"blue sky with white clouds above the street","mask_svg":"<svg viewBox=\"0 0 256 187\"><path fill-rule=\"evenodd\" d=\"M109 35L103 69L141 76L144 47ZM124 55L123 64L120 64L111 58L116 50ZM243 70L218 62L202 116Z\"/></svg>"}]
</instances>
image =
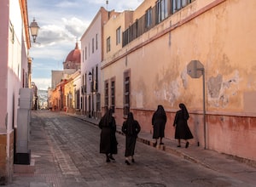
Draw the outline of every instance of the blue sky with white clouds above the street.
<instances>
[{"instance_id":1,"label":"blue sky with white clouds above the street","mask_svg":"<svg viewBox=\"0 0 256 187\"><path fill-rule=\"evenodd\" d=\"M90 26L101 7L122 12L136 9L143 0L27 0L29 23L40 27L32 42L32 82L38 89L51 87L51 71L63 70L62 63ZM32 37L31 37L32 40Z\"/></svg>"}]
</instances>

